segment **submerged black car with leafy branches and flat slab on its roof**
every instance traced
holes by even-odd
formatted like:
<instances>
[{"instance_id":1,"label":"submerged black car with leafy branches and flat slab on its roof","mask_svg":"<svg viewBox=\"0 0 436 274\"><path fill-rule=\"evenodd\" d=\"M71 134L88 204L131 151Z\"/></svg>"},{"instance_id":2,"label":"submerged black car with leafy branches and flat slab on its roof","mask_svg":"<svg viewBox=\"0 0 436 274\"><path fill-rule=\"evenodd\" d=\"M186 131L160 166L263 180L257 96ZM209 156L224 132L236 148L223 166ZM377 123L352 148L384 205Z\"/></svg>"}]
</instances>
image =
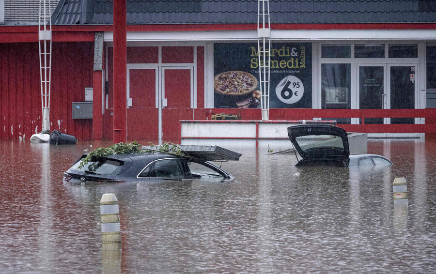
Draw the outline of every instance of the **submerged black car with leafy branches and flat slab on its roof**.
<instances>
[{"instance_id":1,"label":"submerged black car with leafy branches and flat slab on its roof","mask_svg":"<svg viewBox=\"0 0 436 274\"><path fill-rule=\"evenodd\" d=\"M160 182L192 179L232 180L209 161L239 160L242 155L218 146L180 146L188 156L164 152L117 154L92 159L83 167L80 159L63 174L63 180L81 182Z\"/></svg>"}]
</instances>

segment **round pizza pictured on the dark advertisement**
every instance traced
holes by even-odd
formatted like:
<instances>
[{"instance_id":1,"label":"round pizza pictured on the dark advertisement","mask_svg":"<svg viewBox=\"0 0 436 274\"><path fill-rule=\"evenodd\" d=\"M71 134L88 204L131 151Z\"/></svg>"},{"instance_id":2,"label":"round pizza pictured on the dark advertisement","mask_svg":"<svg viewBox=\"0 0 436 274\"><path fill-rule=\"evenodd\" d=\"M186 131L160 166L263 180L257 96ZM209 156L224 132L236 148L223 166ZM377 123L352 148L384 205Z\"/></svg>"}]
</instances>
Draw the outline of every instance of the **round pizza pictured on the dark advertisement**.
<instances>
[{"instance_id":1,"label":"round pizza pictured on the dark advertisement","mask_svg":"<svg viewBox=\"0 0 436 274\"><path fill-rule=\"evenodd\" d=\"M248 72L227 71L214 77L214 89L224 95L244 95L257 88L256 77Z\"/></svg>"}]
</instances>

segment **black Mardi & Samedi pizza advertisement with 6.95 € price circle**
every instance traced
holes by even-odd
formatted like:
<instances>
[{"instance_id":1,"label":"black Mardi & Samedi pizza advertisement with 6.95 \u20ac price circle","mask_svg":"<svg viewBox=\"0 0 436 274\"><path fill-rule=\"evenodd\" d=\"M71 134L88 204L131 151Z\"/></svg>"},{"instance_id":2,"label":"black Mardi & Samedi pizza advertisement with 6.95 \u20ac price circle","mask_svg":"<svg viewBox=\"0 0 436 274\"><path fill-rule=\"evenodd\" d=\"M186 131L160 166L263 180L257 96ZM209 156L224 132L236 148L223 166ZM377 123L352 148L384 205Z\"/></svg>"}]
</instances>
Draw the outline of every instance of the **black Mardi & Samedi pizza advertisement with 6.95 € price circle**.
<instances>
[{"instance_id":1,"label":"black Mardi & Samedi pizza advertisement with 6.95 \u20ac price circle","mask_svg":"<svg viewBox=\"0 0 436 274\"><path fill-rule=\"evenodd\" d=\"M270 108L312 107L311 51L311 43L271 43ZM260 85L257 43L214 44L215 108L260 108Z\"/></svg>"}]
</instances>

